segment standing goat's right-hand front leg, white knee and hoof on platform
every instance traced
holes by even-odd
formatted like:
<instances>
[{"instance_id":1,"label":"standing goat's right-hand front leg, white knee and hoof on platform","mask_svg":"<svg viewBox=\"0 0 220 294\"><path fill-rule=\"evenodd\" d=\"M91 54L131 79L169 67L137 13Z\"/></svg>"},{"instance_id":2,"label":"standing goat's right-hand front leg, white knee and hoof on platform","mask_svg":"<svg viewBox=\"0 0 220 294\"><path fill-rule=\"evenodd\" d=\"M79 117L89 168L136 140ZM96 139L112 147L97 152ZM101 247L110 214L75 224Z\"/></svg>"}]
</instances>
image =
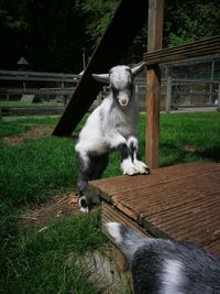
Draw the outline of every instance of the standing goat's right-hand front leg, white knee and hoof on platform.
<instances>
[{"instance_id":1,"label":"standing goat's right-hand front leg, white knee and hoof on platform","mask_svg":"<svg viewBox=\"0 0 220 294\"><path fill-rule=\"evenodd\" d=\"M142 161L139 153L139 141L135 137L131 135L128 140L128 148L131 153L131 160L136 167L139 174L150 174L148 166Z\"/></svg>"}]
</instances>

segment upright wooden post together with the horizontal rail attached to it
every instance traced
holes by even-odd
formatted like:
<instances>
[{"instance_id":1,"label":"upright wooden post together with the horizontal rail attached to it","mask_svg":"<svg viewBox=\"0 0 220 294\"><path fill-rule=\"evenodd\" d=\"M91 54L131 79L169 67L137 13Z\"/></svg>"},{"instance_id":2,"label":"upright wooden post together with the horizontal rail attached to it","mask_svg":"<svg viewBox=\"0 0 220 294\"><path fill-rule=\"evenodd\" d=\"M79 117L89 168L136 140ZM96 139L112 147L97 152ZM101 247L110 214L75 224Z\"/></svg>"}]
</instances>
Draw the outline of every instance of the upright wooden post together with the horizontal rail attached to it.
<instances>
[{"instance_id":1,"label":"upright wooden post together with the horizontal rail attached to it","mask_svg":"<svg viewBox=\"0 0 220 294\"><path fill-rule=\"evenodd\" d=\"M220 53L220 35L196 41L189 44L162 48L164 1L148 0L148 39L147 53L143 58L147 67L147 121L146 121L146 162L151 168L158 167L158 133L161 101L162 63L176 62L186 58Z\"/></svg>"}]
</instances>

